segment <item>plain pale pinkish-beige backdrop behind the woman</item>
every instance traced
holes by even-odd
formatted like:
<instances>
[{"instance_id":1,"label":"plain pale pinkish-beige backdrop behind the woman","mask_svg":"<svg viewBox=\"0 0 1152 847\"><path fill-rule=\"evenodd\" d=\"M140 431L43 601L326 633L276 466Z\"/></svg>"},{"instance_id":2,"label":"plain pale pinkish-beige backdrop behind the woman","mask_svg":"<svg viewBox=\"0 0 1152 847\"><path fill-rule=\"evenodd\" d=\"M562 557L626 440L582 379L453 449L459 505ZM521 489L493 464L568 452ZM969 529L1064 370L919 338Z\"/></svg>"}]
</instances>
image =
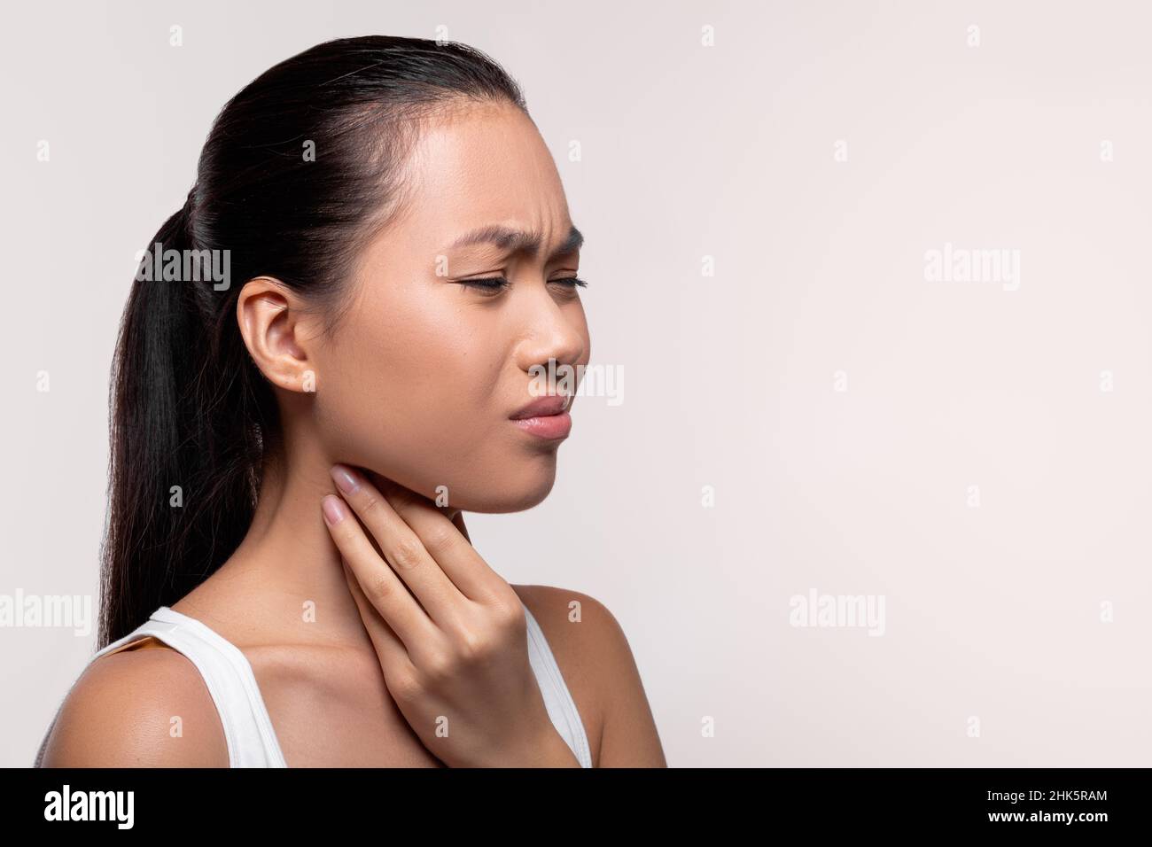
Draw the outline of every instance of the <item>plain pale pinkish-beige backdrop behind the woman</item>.
<instances>
[{"instance_id":1,"label":"plain pale pinkish-beige backdrop behind the woman","mask_svg":"<svg viewBox=\"0 0 1152 847\"><path fill-rule=\"evenodd\" d=\"M669 764L1149 763L1143 3L6 15L0 593L96 595L116 322L217 111L328 38L445 35L524 86L588 239L593 363L624 375L579 401L552 496L471 535L615 613ZM1018 288L927 281L946 243L1018 250ZM791 626L812 590L882 596L884 635ZM0 765L93 644L0 628Z\"/></svg>"}]
</instances>

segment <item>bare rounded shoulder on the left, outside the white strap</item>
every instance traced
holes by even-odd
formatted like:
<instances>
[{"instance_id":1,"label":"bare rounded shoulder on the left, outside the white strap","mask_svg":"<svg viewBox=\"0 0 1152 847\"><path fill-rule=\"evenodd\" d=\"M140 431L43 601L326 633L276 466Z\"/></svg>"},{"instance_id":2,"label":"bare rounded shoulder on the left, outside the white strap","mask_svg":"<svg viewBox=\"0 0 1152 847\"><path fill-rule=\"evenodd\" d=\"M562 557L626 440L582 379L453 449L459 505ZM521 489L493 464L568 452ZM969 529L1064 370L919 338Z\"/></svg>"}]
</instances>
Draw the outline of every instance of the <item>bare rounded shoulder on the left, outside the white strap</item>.
<instances>
[{"instance_id":1,"label":"bare rounded shoulder on the left, outside the white strap","mask_svg":"<svg viewBox=\"0 0 1152 847\"><path fill-rule=\"evenodd\" d=\"M175 650L93 660L60 709L44 767L227 767L223 727L204 678Z\"/></svg>"}]
</instances>

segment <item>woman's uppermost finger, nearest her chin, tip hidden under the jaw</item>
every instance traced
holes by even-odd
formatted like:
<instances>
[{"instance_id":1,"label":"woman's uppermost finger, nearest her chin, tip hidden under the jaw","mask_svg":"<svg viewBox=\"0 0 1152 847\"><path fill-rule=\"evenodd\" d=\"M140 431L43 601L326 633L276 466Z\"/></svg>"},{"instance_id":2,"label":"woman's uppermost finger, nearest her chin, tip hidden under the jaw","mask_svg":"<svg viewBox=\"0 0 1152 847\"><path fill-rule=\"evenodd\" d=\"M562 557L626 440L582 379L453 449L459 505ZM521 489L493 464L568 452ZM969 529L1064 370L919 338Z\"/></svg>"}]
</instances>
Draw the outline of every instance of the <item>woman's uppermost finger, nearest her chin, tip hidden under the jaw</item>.
<instances>
[{"instance_id":1,"label":"woman's uppermost finger, nearest her chin, tip hidden under the jaw","mask_svg":"<svg viewBox=\"0 0 1152 847\"><path fill-rule=\"evenodd\" d=\"M431 499L376 474L370 472L369 477L379 481L379 490L388 505L412 529L424 549L464 597L477 603L488 603L499 596L507 583L488 567L455 521L445 515Z\"/></svg>"}]
</instances>

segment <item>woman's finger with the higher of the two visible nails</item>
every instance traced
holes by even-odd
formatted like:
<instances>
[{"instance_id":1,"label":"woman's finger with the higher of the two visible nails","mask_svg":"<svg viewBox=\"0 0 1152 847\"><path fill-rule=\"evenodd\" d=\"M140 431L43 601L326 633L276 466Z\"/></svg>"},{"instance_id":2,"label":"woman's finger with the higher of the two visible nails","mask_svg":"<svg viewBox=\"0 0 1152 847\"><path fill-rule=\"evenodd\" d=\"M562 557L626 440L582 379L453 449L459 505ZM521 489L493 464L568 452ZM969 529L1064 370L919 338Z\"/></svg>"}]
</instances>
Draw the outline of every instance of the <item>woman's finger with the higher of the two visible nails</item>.
<instances>
[{"instance_id":1,"label":"woman's finger with the higher of the two visible nails","mask_svg":"<svg viewBox=\"0 0 1152 847\"><path fill-rule=\"evenodd\" d=\"M363 474L348 466L333 466L332 478L344 500L376 538L386 559L382 564L377 564L380 557L373 557L374 562L361 560L365 573L361 573L358 562L349 559L348 564L361 584L371 584L372 580L379 578L373 574L377 568L391 566L389 569L403 580L433 621L446 625L456 618L465 598L440 569L412 528L396 514L389 500ZM453 531L456 531L455 528ZM365 578L369 582L365 583Z\"/></svg>"}]
</instances>

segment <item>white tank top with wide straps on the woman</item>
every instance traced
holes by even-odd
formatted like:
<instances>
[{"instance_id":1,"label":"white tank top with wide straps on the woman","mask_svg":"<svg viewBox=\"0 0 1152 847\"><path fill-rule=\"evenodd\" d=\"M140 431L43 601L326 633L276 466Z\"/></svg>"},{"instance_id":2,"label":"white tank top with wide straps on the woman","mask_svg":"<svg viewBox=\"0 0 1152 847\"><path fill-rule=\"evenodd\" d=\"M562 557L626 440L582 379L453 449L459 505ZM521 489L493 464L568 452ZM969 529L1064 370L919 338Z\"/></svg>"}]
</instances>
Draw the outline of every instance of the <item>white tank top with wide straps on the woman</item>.
<instances>
[{"instance_id":1,"label":"white tank top with wide straps on the woman","mask_svg":"<svg viewBox=\"0 0 1152 847\"><path fill-rule=\"evenodd\" d=\"M584 724L581 721L579 712L576 711L576 703L568 686L564 685L552 649L528 606L524 606L524 617L528 620L528 659L544 695L548 717L552 718L556 732L571 748L581 766L591 767L592 754L588 746L588 736L584 734ZM212 701L220 712L225 741L228 743L229 766L288 766L280 750L280 742L272 727L264 697L260 696L260 689L256 685L252 666L240 648L195 618L189 618L168 606L160 606L144 623L97 652L89 659L89 664L149 635L187 656L200 672L209 694L212 695ZM63 706L63 701L60 705ZM60 709L56 709L55 717L36 754L37 767L40 766L48 736L59 717Z\"/></svg>"}]
</instances>

